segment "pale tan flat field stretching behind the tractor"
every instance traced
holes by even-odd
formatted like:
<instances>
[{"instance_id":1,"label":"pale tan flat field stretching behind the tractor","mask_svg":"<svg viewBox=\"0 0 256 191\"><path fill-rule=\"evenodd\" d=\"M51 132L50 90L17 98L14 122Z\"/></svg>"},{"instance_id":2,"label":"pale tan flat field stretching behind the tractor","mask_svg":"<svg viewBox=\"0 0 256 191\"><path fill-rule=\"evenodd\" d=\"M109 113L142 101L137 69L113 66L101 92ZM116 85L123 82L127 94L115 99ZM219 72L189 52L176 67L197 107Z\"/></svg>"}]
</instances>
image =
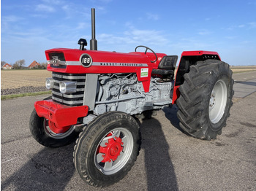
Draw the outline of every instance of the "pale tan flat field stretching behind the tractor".
<instances>
[{"instance_id":1,"label":"pale tan flat field stretching behind the tractor","mask_svg":"<svg viewBox=\"0 0 256 191\"><path fill-rule=\"evenodd\" d=\"M233 66L234 73L255 71L256 66ZM42 87L45 86L45 78L51 77L47 70L1 70L1 90L18 87Z\"/></svg>"}]
</instances>

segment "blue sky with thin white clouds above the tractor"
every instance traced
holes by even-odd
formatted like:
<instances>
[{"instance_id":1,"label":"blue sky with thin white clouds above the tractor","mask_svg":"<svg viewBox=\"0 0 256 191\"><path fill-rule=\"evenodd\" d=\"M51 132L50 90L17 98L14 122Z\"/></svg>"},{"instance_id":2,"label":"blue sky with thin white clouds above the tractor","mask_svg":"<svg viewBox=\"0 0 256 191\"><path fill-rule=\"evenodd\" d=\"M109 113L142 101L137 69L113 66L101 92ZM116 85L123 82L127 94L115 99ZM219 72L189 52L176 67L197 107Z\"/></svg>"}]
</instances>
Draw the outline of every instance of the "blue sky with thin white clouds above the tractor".
<instances>
[{"instance_id":1,"label":"blue sky with thin white clouds above the tractor","mask_svg":"<svg viewBox=\"0 0 256 191\"><path fill-rule=\"evenodd\" d=\"M230 65L256 65L256 0L1 0L1 61L29 66L53 47L79 48L91 39L92 7L98 50L211 50Z\"/></svg>"}]
</instances>

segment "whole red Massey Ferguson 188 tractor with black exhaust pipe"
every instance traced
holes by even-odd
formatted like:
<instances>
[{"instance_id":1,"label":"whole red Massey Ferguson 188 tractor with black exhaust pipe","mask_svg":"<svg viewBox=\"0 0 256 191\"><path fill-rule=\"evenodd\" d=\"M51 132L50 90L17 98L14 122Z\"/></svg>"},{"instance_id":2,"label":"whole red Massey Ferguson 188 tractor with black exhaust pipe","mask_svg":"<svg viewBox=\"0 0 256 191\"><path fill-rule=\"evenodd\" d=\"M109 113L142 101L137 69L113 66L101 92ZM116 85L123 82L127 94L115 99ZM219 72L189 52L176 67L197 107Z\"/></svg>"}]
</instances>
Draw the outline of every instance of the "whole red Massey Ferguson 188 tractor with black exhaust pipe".
<instances>
[{"instance_id":1,"label":"whole red Massey Ferguson 188 tractor with black exhaust pipe","mask_svg":"<svg viewBox=\"0 0 256 191\"><path fill-rule=\"evenodd\" d=\"M140 150L135 115L177 104L181 128L198 139L216 139L230 116L232 71L217 52L186 51L174 80L177 55L138 46L135 52L97 50L92 15L90 50L46 50L46 87L52 96L34 104L30 130L45 147L76 140L75 168L88 184L105 187L122 179ZM139 52L138 48L143 49Z\"/></svg>"}]
</instances>

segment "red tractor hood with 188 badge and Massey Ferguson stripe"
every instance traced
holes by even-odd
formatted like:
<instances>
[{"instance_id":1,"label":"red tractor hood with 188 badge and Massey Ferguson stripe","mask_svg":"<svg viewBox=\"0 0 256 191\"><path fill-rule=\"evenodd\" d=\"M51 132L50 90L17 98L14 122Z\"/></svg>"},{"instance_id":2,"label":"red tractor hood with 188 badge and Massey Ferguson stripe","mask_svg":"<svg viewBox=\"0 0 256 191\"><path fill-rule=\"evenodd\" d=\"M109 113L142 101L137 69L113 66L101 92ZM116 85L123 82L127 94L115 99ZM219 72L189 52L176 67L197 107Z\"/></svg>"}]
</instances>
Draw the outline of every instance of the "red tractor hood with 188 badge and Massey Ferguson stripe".
<instances>
[{"instance_id":1,"label":"red tractor hood with 188 badge and Massey Ferguson stripe","mask_svg":"<svg viewBox=\"0 0 256 191\"><path fill-rule=\"evenodd\" d=\"M99 50L78 50L56 48L46 50L48 71L71 74L137 73L141 68L157 69L165 54L151 52L106 52Z\"/></svg>"}]
</instances>

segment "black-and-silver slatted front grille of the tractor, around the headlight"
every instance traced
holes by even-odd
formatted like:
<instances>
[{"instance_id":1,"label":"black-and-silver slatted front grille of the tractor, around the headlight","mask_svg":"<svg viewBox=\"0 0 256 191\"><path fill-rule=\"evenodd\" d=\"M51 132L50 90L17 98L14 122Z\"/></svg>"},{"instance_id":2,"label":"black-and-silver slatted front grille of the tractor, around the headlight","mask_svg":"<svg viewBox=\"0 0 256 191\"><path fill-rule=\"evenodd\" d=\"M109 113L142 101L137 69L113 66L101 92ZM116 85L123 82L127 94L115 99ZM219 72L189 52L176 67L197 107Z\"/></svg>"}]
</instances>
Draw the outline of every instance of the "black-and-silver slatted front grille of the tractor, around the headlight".
<instances>
[{"instance_id":1,"label":"black-and-silver slatted front grille of the tractor, around the headlight","mask_svg":"<svg viewBox=\"0 0 256 191\"><path fill-rule=\"evenodd\" d=\"M86 74L66 74L53 72L54 85L52 90L53 101L66 106L82 106L83 93L86 83ZM59 83L61 81L78 82L76 93L61 93L59 91Z\"/></svg>"}]
</instances>

